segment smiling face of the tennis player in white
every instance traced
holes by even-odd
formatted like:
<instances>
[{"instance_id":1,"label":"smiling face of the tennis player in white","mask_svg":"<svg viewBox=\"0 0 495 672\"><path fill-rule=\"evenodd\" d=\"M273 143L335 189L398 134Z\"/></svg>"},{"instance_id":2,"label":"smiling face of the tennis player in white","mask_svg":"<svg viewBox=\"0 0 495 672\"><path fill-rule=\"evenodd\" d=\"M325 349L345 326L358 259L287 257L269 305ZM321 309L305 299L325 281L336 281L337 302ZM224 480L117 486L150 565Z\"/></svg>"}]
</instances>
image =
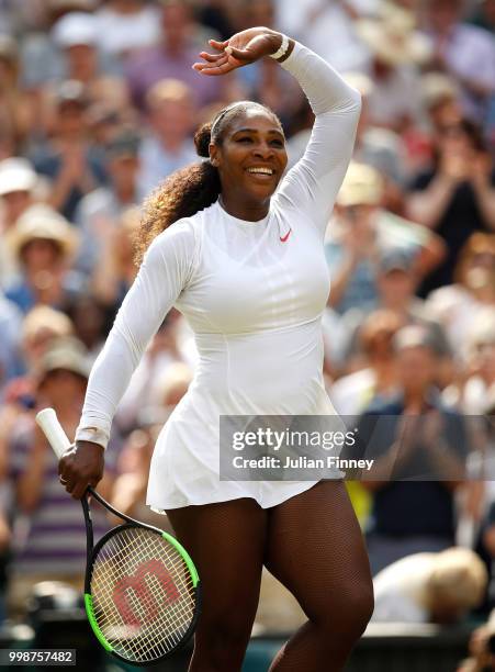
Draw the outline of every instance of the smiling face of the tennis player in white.
<instances>
[{"instance_id":1,"label":"smiling face of the tennis player in white","mask_svg":"<svg viewBox=\"0 0 495 672\"><path fill-rule=\"evenodd\" d=\"M246 203L263 203L285 170L285 138L277 117L260 105L235 114L220 142L210 145L220 171L222 194Z\"/></svg>"}]
</instances>

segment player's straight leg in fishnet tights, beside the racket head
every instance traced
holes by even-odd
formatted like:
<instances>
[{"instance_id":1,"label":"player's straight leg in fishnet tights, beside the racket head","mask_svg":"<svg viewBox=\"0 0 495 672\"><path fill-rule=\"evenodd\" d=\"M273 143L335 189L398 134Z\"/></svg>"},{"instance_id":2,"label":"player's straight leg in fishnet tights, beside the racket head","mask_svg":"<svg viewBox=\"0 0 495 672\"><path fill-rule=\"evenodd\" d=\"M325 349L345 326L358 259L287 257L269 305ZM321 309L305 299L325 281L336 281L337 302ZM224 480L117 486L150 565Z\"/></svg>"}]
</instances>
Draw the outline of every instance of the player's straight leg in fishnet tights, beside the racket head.
<instances>
[{"instance_id":1,"label":"player's straight leg in fishnet tights, beside the racket head","mask_svg":"<svg viewBox=\"0 0 495 672\"><path fill-rule=\"evenodd\" d=\"M267 512L240 499L167 513L203 591L189 672L240 672L259 600Z\"/></svg>"}]
</instances>

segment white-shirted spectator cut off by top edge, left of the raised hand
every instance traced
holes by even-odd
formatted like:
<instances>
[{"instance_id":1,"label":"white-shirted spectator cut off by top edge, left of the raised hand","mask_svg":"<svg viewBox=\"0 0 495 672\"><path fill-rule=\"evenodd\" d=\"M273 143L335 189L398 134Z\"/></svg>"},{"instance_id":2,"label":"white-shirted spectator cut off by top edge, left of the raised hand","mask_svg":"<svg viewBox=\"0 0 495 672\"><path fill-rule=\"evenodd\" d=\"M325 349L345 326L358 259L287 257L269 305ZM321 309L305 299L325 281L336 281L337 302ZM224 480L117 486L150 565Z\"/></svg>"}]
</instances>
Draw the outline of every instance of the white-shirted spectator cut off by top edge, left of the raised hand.
<instances>
[{"instance_id":1,"label":"white-shirted spectator cut off by top edge, left of the raised hand","mask_svg":"<svg viewBox=\"0 0 495 672\"><path fill-rule=\"evenodd\" d=\"M109 0L95 15L100 49L121 59L159 41L159 12L146 0Z\"/></svg>"}]
</instances>

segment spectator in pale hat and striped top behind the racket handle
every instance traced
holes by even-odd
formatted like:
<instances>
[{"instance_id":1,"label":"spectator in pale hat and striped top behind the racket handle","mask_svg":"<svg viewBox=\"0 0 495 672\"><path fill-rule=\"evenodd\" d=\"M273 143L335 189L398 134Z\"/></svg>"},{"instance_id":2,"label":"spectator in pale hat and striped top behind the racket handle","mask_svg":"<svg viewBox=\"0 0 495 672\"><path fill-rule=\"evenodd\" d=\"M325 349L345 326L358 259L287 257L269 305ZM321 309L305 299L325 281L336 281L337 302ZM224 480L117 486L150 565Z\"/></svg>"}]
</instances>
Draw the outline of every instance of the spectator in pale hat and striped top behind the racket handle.
<instances>
[{"instance_id":1,"label":"spectator in pale hat and striped top behind the racket handle","mask_svg":"<svg viewBox=\"0 0 495 672\"><path fill-rule=\"evenodd\" d=\"M55 408L68 436L79 422L89 374L85 349L75 339L54 341L37 362L38 407ZM25 609L32 587L40 581L57 579L82 587L86 563L85 522L80 504L58 481L57 460L31 417L19 423L11 437L10 478L15 484L19 512L30 518L24 545L15 552L9 586L11 616ZM106 496L113 480L115 456L105 456L105 477L99 492ZM113 456L113 457L112 457ZM93 528L100 538L109 524L94 503Z\"/></svg>"}]
</instances>

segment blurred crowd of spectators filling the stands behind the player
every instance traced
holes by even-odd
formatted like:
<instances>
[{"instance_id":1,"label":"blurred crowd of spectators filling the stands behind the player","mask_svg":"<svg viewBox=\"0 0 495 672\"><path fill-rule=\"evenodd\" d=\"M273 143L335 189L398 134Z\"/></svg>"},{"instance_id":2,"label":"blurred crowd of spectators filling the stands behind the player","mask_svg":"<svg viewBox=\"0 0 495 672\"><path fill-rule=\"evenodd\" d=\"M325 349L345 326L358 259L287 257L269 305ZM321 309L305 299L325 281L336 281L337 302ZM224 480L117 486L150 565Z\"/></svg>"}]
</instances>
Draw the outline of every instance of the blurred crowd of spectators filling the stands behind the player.
<instances>
[{"instance_id":1,"label":"blurred crowd of spectators filling the stands behind the player","mask_svg":"<svg viewBox=\"0 0 495 672\"><path fill-rule=\"evenodd\" d=\"M313 114L277 63L191 69L210 37L254 25L301 41L362 94L325 243L325 380L363 430L396 418L370 434L381 478L348 483L375 618L495 606L495 1L0 0L0 618L40 581L80 584L80 506L33 418L53 406L74 436L137 271L143 202L196 160L194 130L234 100L277 112L290 165L304 153ZM106 451L103 496L161 527L147 470L195 363L172 310ZM407 477L413 462L426 478ZM95 512L97 536L110 524Z\"/></svg>"}]
</instances>

